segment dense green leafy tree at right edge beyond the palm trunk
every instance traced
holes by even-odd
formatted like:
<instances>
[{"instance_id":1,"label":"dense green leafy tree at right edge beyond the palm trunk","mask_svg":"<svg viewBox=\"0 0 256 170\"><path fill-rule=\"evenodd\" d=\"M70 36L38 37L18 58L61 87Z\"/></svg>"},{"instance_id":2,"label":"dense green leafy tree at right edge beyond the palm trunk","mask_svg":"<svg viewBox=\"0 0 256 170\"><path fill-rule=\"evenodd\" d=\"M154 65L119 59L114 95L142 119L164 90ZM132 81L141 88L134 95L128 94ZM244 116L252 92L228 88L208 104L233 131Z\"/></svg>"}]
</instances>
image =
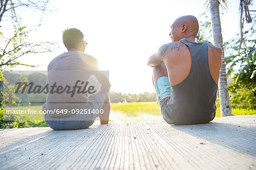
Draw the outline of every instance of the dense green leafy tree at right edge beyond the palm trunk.
<instances>
[{"instance_id":1,"label":"dense green leafy tree at right edge beyond the palm trunk","mask_svg":"<svg viewBox=\"0 0 256 170\"><path fill-rule=\"evenodd\" d=\"M254 22L255 23L255 22ZM225 43L230 56L226 57L228 76L232 77L229 84L230 99L234 107L256 109L256 40L254 27L243 32L245 44L240 46L240 39L234 38ZM238 36L238 34L237 34ZM240 51L238 53L238 51Z\"/></svg>"}]
</instances>

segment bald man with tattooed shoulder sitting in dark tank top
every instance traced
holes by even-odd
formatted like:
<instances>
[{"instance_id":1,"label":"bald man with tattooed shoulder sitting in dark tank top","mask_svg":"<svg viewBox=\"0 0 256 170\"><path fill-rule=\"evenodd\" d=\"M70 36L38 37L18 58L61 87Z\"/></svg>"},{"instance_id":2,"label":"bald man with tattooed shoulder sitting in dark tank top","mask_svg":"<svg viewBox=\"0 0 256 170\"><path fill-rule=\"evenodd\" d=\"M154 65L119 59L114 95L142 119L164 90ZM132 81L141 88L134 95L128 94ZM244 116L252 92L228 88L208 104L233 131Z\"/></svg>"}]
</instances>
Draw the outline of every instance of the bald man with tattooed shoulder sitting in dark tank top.
<instances>
[{"instance_id":1,"label":"bald man with tattooed shoulder sitting in dark tank top","mask_svg":"<svg viewBox=\"0 0 256 170\"><path fill-rule=\"evenodd\" d=\"M177 18L171 26L172 43L162 45L148 59L161 112L169 124L208 123L216 114L221 49L195 42L198 31L195 16Z\"/></svg>"}]
</instances>

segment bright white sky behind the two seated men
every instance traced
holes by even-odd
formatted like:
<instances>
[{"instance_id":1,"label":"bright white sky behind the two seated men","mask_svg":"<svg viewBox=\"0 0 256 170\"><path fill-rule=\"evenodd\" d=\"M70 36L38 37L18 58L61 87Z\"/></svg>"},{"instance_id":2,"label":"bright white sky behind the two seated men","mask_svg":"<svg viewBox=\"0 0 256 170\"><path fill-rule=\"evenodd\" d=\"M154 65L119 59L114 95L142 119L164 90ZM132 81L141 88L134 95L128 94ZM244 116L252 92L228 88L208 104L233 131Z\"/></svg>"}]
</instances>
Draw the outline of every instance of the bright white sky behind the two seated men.
<instances>
[{"instance_id":1,"label":"bright white sky behind the two seated men","mask_svg":"<svg viewBox=\"0 0 256 170\"><path fill-rule=\"evenodd\" d=\"M37 68L16 67L15 70L46 71L49 62L67 49L62 42L66 28L78 28L88 42L85 53L96 57L100 68L109 71L110 90L122 93L154 92L147 59L158 48L170 43L171 24L182 15L194 15L199 21L209 20L206 0L51 0L43 14L35 11L21 11L23 24L35 27L28 39L32 42L52 41L59 44L51 53L28 55L20 59L23 63L40 65ZM228 10L221 10L222 36L225 41L239 32L239 2L228 1ZM255 10L256 6L250 6ZM42 18L42 21L40 21ZM245 26L250 27L251 25Z\"/></svg>"}]
</instances>

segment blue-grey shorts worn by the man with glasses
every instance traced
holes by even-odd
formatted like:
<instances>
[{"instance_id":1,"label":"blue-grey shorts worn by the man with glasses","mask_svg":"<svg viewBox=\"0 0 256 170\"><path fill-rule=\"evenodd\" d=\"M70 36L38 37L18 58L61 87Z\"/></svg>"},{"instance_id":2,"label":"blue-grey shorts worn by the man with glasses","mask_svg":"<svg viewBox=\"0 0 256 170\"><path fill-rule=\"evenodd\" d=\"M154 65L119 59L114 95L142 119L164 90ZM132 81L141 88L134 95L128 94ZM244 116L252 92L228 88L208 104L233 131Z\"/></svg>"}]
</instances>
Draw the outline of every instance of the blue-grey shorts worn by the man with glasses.
<instances>
[{"instance_id":1,"label":"blue-grey shorts worn by the man with glasses","mask_svg":"<svg viewBox=\"0 0 256 170\"><path fill-rule=\"evenodd\" d=\"M109 94L106 93L105 96L102 96L98 93L93 94L89 97L89 106L85 109L90 110L100 110L102 109L105 97L109 97ZM46 124L51 127L53 130L74 130L81 128L88 128L93 125L95 119L98 117L98 114L74 114L68 118L53 118L48 115L44 115L44 120Z\"/></svg>"}]
</instances>

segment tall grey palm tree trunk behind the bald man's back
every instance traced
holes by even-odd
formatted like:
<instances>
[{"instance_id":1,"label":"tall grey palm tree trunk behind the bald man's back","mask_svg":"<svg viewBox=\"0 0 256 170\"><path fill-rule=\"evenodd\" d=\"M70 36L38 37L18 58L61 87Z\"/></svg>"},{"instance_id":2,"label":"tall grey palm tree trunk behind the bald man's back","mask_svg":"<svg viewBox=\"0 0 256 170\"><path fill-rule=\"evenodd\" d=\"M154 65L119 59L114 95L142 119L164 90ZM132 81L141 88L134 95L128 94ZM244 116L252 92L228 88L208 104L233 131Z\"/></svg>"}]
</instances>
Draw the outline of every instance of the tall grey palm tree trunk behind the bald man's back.
<instances>
[{"instance_id":1,"label":"tall grey palm tree trunk behind the bald man's back","mask_svg":"<svg viewBox=\"0 0 256 170\"><path fill-rule=\"evenodd\" d=\"M210 0L210 15L212 17L213 42L214 45L220 47L222 50L220 77L218 78L218 93L220 97L221 116L224 117L232 115L232 111L230 106L228 84L226 82L226 64L222 43L220 11L218 7L218 0Z\"/></svg>"}]
</instances>

